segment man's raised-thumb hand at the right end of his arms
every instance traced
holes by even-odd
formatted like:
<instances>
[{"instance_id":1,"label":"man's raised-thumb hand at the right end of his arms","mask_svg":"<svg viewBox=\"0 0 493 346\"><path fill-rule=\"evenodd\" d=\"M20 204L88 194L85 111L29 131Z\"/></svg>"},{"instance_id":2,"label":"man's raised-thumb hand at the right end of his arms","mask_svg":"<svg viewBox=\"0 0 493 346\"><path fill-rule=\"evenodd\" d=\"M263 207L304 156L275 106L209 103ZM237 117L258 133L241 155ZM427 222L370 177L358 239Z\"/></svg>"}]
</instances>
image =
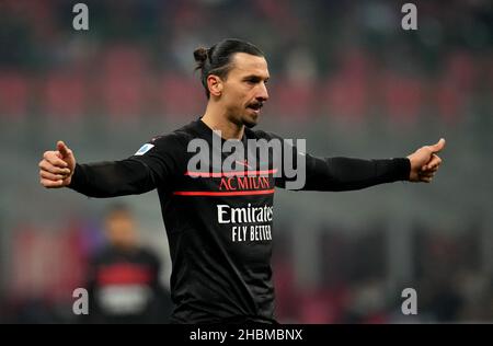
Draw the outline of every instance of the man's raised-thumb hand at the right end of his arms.
<instances>
[{"instance_id":1,"label":"man's raised-thumb hand at the right end of his arms","mask_svg":"<svg viewBox=\"0 0 493 346\"><path fill-rule=\"evenodd\" d=\"M410 182L431 183L436 171L442 164L442 159L436 154L445 148L445 139L436 145L425 146L408 157L411 161Z\"/></svg>"}]
</instances>

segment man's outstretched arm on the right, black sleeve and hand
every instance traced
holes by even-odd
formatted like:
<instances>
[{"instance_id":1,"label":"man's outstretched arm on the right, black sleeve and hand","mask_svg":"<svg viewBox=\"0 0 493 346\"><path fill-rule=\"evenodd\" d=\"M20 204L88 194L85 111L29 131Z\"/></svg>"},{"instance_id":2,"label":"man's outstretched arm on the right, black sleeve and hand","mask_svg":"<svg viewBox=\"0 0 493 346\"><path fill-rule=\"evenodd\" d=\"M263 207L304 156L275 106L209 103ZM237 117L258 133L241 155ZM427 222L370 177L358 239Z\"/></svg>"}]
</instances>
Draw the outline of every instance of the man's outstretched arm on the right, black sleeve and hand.
<instances>
[{"instance_id":1,"label":"man's outstretched arm on the right, black sleeve and hand","mask_svg":"<svg viewBox=\"0 0 493 346\"><path fill-rule=\"evenodd\" d=\"M305 191L353 191L397 181L432 182L445 140L425 146L406 158L363 160L306 157Z\"/></svg>"}]
</instances>

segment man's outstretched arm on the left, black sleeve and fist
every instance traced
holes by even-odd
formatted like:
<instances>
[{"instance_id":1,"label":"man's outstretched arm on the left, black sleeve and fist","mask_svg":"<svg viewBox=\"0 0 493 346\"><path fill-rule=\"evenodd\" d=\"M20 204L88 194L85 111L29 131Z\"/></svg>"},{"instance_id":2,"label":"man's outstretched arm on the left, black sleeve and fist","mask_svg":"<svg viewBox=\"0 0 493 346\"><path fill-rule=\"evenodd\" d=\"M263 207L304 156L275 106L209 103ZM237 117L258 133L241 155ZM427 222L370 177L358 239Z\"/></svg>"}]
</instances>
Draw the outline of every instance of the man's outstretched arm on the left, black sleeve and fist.
<instances>
[{"instance_id":1,"label":"man's outstretched arm on the left, black sleeve and fist","mask_svg":"<svg viewBox=\"0 0 493 346\"><path fill-rule=\"evenodd\" d=\"M62 142L46 151L39 162L39 183L47 188L70 187L89 197L136 195L156 187L150 169L141 161L78 164Z\"/></svg>"}]
</instances>

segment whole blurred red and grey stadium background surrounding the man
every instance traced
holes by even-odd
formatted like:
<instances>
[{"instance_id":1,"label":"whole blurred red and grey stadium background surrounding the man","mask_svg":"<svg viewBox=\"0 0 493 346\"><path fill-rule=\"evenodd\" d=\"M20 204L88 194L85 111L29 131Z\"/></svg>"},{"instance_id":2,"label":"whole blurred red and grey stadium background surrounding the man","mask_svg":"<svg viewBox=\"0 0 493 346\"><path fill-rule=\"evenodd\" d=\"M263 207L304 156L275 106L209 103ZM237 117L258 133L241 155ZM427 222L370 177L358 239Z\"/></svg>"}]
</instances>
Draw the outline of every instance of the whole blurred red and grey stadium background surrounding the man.
<instances>
[{"instance_id":1,"label":"whole blurred red and grey stadium background surrounding the man","mask_svg":"<svg viewBox=\"0 0 493 346\"><path fill-rule=\"evenodd\" d=\"M240 37L266 54L260 128L318 155L398 157L445 137L435 182L353 193L279 191L274 273L282 322L493 321L491 1L0 2L0 321L72 322L72 290L112 199L46 191L37 163L64 139L116 160L199 116L192 51ZM158 196L118 198L167 263ZM419 314L401 314L401 290Z\"/></svg>"}]
</instances>

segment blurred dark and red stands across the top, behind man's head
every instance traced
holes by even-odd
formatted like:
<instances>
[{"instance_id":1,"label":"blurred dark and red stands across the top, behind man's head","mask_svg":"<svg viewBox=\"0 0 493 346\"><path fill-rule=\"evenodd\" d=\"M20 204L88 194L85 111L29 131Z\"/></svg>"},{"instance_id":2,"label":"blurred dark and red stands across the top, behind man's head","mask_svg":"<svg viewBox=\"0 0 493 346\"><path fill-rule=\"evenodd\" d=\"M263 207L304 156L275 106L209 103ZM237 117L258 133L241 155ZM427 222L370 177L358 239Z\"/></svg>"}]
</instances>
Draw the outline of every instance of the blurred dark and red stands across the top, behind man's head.
<instances>
[{"instance_id":1,"label":"blurred dark and red stands across the top, behind man's head","mask_svg":"<svg viewBox=\"0 0 493 346\"><path fill-rule=\"evenodd\" d=\"M274 117L460 122L493 89L489 1L419 1L415 32L394 1L85 3L77 32L71 1L2 1L0 115L196 115L192 51L225 36L265 51Z\"/></svg>"}]
</instances>

